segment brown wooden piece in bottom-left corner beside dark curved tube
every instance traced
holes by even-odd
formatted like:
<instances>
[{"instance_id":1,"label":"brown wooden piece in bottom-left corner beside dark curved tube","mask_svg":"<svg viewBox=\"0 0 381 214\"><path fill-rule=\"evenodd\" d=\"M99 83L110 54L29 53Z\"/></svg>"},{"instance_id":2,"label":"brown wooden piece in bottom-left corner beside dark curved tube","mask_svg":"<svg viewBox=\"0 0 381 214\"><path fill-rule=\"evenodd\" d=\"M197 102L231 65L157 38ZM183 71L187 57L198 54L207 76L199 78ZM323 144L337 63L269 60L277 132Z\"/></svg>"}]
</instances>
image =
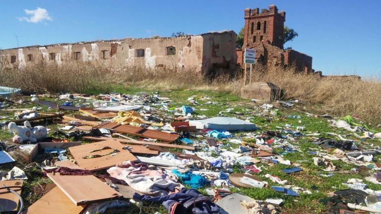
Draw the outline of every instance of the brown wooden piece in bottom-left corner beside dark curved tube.
<instances>
[{"instance_id":1,"label":"brown wooden piece in bottom-left corner beside dark curved tube","mask_svg":"<svg viewBox=\"0 0 381 214\"><path fill-rule=\"evenodd\" d=\"M5 185L10 187L9 189L16 191L19 195L21 195L21 187L22 180L5 180L0 181L0 187ZM12 187L16 186L16 187ZM19 188L18 188L19 187ZM0 213L1 212L9 212L9 211L17 211L17 206L19 203L19 199L17 196L6 189L0 189Z\"/></svg>"}]
</instances>

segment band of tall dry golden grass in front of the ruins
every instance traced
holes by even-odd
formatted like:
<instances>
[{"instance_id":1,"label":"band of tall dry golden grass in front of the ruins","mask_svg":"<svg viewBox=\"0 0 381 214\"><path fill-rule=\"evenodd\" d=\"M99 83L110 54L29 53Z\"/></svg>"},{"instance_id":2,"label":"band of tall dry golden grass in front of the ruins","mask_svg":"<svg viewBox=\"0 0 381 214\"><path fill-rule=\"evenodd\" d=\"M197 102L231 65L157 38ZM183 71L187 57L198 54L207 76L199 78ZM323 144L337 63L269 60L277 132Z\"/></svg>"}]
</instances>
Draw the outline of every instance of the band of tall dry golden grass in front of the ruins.
<instances>
[{"instance_id":1,"label":"band of tall dry golden grass in front of the ruins","mask_svg":"<svg viewBox=\"0 0 381 214\"><path fill-rule=\"evenodd\" d=\"M296 73L294 68L255 66L252 82L272 82L284 89L283 99L318 105L320 112L356 115L381 122L381 82L355 78L320 78ZM146 90L213 90L239 94L241 75L205 79L192 70L110 69L101 65L44 63L24 69L0 67L0 85L38 92L84 92L112 90L112 85L137 86Z\"/></svg>"}]
</instances>

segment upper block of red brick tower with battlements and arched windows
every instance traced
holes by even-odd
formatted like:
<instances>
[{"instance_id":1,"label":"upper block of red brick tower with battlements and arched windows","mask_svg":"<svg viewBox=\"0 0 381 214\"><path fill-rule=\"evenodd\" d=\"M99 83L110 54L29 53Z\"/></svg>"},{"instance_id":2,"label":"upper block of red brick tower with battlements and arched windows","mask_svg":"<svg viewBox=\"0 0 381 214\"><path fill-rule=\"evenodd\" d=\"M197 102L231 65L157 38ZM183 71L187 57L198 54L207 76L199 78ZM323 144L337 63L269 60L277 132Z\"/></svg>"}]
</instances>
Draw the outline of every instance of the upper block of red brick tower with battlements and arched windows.
<instances>
[{"instance_id":1,"label":"upper block of red brick tower with battlements and arched windows","mask_svg":"<svg viewBox=\"0 0 381 214\"><path fill-rule=\"evenodd\" d=\"M286 12L278 13L274 4L269 9L259 8L245 10L245 31L243 48L252 48L261 41L283 49L283 31ZM268 42L269 41L269 42Z\"/></svg>"}]
</instances>

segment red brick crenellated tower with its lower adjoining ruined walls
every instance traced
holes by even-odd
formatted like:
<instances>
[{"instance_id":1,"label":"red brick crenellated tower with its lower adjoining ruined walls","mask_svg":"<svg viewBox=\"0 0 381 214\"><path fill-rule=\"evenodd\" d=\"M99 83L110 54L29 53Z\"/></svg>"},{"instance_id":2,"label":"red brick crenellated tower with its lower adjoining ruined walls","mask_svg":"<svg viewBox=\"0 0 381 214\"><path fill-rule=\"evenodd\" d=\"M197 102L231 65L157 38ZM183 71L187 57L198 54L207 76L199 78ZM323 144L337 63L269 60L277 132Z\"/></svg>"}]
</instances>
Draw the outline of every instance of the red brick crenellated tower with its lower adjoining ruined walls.
<instances>
[{"instance_id":1,"label":"red brick crenellated tower with its lower adjoining ruined walls","mask_svg":"<svg viewBox=\"0 0 381 214\"><path fill-rule=\"evenodd\" d=\"M238 64L243 63L243 51L256 50L256 63L267 66L295 65L299 71L313 73L312 57L292 49L283 49L286 12L278 12L275 5L269 9L244 9L244 38L242 49L237 50Z\"/></svg>"}]
</instances>

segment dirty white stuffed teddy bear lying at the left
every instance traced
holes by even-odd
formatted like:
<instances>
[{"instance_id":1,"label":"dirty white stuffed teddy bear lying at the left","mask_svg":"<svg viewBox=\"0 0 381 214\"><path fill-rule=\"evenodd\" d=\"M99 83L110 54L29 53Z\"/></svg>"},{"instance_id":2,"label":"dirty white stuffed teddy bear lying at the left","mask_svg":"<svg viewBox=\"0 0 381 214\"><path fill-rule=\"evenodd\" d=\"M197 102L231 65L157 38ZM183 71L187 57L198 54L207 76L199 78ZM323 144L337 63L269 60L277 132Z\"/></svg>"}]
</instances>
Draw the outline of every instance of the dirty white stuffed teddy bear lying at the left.
<instances>
[{"instance_id":1,"label":"dirty white stuffed teddy bear lying at the left","mask_svg":"<svg viewBox=\"0 0 381 214\"><path fill-rule=\"evenodd\" d=\"M48 130L44 126L35 126L32 128L29 121L24 122L24 126L18 126L14 122L8 124L9 131L13 132L13 143L21 144L24 141L36 143L37 140L44 139L48 136Z\"/></svg>"}]
</instances>

